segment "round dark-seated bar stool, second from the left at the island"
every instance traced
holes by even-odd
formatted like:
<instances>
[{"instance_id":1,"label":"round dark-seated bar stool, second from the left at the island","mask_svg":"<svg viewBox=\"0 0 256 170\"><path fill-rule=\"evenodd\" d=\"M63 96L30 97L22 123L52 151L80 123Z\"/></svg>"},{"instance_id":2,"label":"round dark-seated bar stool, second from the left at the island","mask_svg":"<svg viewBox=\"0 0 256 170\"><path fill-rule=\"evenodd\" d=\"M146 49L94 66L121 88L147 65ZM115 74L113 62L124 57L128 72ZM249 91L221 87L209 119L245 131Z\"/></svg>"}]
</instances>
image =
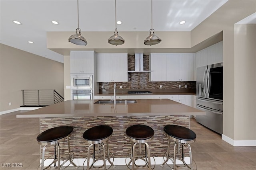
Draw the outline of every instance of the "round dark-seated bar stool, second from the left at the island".
<instances>
[{"instance_id":1,"label":"round dark-seated bar stool, second from the left at the island","mask_svg":"<svg viewBox=\"0 0 256 170\"><path fill-rule=\"evenodd\" d=\"M112 136L113 133L113 129L108 126L108 125L98 125L95 127L92 127L88 130L86 130L83 134L83 138L84 140L90 144L90 146L88 147L88 156L87 156L87 166L86 169L89 170L91 168L93 169L104 169L107 170L109 168L111 168L112 166L115 168L116 166L113 164L114 162L114 156L112 153L109 152L109 148L108 148L108 139L110 139L110 137ZM104 146L104 142L106 142L107 144L107 158L105 156L105 146ZM96 158L95 156L95 145L98 144L98 152L97 152L97 156L98 158ZM93 155L92 155L92 164L90 164L90 150L93 146ZM102 154L100 152L100 149L102 149ZM102 158L103 157L103 158ZM113 158L113 160L111 161L110 158ZM84 160L84 163L86 161L86 159ZM95 162L97 162L98 160L103 160L103 165L102 166L98 166L96 167L96 165L94 165ZM106 161L108 161L110 163L110 167L106 168ZM84 169L84 164L83 164L83 169Z\"/></svg>"}]
</instances>

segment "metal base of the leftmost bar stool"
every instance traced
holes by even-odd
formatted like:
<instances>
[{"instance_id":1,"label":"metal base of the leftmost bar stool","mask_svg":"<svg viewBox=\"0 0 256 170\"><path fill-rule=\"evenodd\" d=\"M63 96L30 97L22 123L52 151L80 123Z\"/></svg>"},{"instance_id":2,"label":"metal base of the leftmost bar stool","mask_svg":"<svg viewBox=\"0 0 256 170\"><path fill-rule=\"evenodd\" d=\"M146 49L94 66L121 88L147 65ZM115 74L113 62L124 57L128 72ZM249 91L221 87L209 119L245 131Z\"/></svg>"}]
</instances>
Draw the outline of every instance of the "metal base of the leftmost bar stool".
<instances>
[{"instance_id":1,"label":"metal base of the leftmost bar stool","mask_svg":"<svg viewBox=\"0 0 256 170\"><path fill-rule=\"evenodd\" d=\"M68 136L69 137L69 136ZM67 142L68 142L68 154L69 156L66 158L66 159L62 159L60 160L60 145L59 145L59 142L58 143L54 143L54 160L52 161L52 163L50 163L48 166L46 166L46 168L44 168L44 161L47 160L48 158L50 158L51 156L49 156L48 158L44 159L44 154L45 154L45 150L47 148L48 145L52 145L53 143L42 143L44 144L44 147L43 147L43 151L42 151L42 163L40 164L41 165L41 168L40 168L40 165L38 166L38 169L40 168L41 170L46 170L48 168L50 169L58 169L58 170L64 170L65 168L67 168L70 164L72 164L73 166L75 166L76 168L78 168L79 166L77 166L73 160L74 160L74 154L70 151L70 143L69 143L69 138L68 137L65 137L63 138L62 140L60 141L64 141L65 139L67 139ZM40 143L40 142L38 142ZM56 154L57 152L57 154ZM60 163L62 161L62 163ZM70 163L65 166L64 164L69 161ZM54 166L52 166L54 165Z\"/></svg>"}]
</instances>

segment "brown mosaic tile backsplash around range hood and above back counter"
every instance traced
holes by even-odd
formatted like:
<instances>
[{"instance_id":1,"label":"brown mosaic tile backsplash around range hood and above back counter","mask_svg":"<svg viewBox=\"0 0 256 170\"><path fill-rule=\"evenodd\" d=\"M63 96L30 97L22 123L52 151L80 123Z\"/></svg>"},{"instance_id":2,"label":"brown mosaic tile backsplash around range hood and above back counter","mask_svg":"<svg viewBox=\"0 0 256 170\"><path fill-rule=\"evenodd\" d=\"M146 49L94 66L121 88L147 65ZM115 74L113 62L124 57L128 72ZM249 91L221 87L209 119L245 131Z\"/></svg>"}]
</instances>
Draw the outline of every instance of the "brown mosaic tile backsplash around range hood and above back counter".
<instances>
[{"instance_id":1,"label":"brown mosaic tile backsplash around range hood and above back counter","mask_svg":"<svg viewBox=\"0 0 256 170\"><path fill-rule=\"evenodd\" d=\"M143 68L149 70L149 56L143 56ZM128 71L134 70L134 55L128 55ZM196 82L150 82L149 72L128 72L128 82L117 82L118 88L122 86L122 89L195 89ZM160 88L160 85L162 88ZM180 88L179 88L180 85ZM114 82L100 82L99 88L113 89Z\"/></svg>"}]
</instances>

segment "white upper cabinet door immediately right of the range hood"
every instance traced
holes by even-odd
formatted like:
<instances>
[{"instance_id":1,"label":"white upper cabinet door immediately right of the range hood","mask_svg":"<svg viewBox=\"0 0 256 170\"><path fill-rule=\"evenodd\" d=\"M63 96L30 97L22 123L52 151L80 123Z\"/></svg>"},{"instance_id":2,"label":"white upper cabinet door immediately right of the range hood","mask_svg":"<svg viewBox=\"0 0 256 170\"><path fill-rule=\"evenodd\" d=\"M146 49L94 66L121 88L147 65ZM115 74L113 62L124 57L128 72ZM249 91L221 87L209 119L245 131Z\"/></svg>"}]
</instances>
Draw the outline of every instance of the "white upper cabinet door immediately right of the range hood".
<instances>
[{"instance_id":1,"label":"white upper cabinet door immediately right of the range hood","mask_svg":"<svg viewBox=\"0 0 256 170\"><path fill-rule=\"evenodd\" d=\"M150 55L150 81L166 81L166 54Z\"/></svg>"}]
</instances>

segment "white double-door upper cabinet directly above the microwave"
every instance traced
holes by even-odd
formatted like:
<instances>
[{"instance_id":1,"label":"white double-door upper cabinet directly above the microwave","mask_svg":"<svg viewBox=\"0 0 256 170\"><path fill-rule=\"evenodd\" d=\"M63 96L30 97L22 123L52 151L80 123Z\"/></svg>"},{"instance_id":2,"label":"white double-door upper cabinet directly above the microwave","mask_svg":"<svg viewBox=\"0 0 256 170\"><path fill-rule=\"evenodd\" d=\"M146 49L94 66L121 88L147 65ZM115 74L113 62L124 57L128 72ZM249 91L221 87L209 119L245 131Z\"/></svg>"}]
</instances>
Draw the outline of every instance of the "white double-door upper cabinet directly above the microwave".
<instances>
[{"instance_id":1,"label":"white double-door upper cabinet directly above the microwave","mask_svg":"<svg viewBox=\"0 0 256 170\"><path fill-rule=\"evenodd\" d=\"M94 51L70 51L70 73L94 74Z\"/></svg>"}]
</instances>

